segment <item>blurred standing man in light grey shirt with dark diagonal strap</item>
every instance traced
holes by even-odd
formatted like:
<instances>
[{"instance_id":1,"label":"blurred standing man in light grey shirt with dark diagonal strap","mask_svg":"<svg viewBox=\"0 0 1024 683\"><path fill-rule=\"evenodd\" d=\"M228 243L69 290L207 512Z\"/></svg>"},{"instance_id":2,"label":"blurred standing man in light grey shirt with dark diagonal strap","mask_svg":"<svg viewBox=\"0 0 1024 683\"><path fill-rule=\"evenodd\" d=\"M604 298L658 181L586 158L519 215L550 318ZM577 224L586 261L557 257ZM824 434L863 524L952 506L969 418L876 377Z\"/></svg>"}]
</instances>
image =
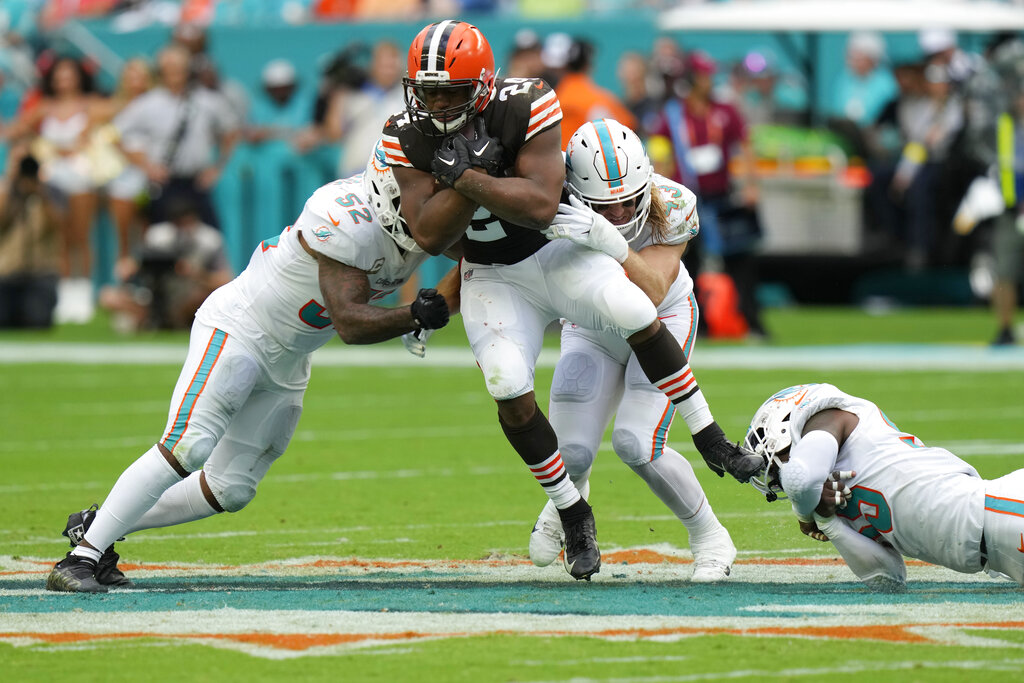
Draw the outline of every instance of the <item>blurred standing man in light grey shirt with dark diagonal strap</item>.
<instances>
[{"instance_id":1,"label":"blurred standing man in light grey shirt with dark diagonal strap","mask_svg":"<svg viewBox=\"0 0 1024 683\"><path fill-rule=\"evenodd\" d=\"M151 221L166 220L168 202L186 198L205 222L217 225L210 191L231 156L239 123L220 94L190 85L184 48L164 48L158 69L161 85L117 120L129 160L150 180Z\"/></svg>"}]
</instances>

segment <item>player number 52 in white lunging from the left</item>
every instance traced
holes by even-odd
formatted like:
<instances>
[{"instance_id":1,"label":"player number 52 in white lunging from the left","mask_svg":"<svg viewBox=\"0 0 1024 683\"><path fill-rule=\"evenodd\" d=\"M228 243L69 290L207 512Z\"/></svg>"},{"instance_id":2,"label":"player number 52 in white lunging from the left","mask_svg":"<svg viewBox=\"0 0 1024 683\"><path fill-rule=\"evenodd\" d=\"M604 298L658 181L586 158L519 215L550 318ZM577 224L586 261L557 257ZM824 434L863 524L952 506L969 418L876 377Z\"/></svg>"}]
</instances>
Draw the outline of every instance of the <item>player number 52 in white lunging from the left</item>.
<instances>
[{"instance_id":1,"label":"player number 52 in white lunging from the left","mask_svg":"<svg viewBox=\"0 0 1024 683\"><path fill-rule=\"evenodd\" d=\"M455 270L408 307L371 302L401 287L426 254L406 230L397 184L380 163L318 188L294 225L196 314L188 355L159 442L128 467L101 508L69 517L74 550L53 591L128 583L114 542L140 529L236 512L285 452L302 412L310 354L335 335L372 344L441 328L458 305Z\"/></svg>"}]
</instances>

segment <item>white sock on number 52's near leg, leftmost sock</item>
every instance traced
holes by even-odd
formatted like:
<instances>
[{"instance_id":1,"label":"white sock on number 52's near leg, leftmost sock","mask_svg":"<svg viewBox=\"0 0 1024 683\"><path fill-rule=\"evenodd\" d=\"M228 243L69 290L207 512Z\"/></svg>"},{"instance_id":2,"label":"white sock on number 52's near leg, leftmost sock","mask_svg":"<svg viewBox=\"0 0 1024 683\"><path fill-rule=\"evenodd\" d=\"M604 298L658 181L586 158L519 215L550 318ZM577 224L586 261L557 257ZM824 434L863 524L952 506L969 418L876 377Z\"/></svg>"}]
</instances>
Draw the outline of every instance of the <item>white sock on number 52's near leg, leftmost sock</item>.
<instances>
[{"instance_id":1,"label":"white sock on number 52's near leg, leftmost sock","mask_svg":"<svg viewBox=\"0 0 1024 683\"><path fill-rule=\"evenodd\" d=\"M102 507L85 532L93 548L103 550L128 532L164 492L181 477L155 445L118 477Z\"/></svg>"}]
</instances>

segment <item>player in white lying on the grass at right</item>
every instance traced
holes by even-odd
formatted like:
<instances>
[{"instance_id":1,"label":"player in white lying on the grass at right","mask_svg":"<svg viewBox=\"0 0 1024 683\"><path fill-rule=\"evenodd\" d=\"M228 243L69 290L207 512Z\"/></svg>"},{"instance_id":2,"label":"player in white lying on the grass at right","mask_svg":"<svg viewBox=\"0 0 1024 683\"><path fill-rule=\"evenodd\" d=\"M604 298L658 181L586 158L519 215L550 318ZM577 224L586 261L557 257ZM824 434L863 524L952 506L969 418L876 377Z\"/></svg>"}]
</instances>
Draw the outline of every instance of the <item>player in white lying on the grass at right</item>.
<instances>
[{"instance_id":1,"label":"player in white lying on the grass at right","mask_svg":"<svg viewBox=\"0 0 1024 683\"><path fill-rule=\"evenodd\" d=\"M1024 469L982 479L830 384L771 396L745 442L763 463L751 483L769 502L787 497L801 530L830 541L871 589L905 587L904 555L1024 585Z\"/></svg>"}]
</instances>

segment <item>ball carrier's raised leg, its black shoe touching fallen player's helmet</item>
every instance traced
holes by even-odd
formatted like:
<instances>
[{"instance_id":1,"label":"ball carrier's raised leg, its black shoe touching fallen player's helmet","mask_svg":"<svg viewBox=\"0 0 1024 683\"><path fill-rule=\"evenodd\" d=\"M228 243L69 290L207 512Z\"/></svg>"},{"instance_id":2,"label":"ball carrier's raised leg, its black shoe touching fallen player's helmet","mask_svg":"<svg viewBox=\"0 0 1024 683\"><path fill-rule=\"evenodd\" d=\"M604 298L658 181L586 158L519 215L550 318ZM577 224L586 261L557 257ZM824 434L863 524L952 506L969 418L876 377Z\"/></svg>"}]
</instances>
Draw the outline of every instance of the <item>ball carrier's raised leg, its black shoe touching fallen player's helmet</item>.
<instances>
[{"instance_id":1,"label":"ball carrier's raised leg, its black shoe touching fallen player's helmet","mask_svg":"<svg viewBox=\"0 0 1024 683\"><path fill-rule=\"evenodd\" d=\"M614 259L571 243L558 247L551 254L549 269L561 314L581 327L614 331L624 337L647 379L685 416L708 465L719 475L727 471L739 481L750 479L761 459L730 443L706 410L707 400L684 350L692 339L681 343L673 336L658 319L654 304ZM692 305L695 323L696 306Z\"/></svg>"}]
</instances>

